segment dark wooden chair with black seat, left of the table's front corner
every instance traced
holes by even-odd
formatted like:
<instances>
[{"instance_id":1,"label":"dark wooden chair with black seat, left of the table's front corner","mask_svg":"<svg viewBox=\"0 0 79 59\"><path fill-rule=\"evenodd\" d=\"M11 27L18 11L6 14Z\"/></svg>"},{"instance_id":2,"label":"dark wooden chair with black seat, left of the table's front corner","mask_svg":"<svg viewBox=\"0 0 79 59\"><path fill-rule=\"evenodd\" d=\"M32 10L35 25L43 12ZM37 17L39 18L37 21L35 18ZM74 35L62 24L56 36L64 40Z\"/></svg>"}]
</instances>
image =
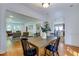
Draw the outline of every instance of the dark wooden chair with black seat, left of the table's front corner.
<instances>
[{"instance_id":1,"label":"dark wooden chair with black seat, left of the table's front corner","mask_svg":"<svg viewBox=\"0 0 79 59\"><path fill-rule=\"evenodd\" d=\"M24 56L35 56L36 55L36 48L29 46L27 38L21 38L22 47L23 47L23 54Z\"/></svg>"}]
</instances>

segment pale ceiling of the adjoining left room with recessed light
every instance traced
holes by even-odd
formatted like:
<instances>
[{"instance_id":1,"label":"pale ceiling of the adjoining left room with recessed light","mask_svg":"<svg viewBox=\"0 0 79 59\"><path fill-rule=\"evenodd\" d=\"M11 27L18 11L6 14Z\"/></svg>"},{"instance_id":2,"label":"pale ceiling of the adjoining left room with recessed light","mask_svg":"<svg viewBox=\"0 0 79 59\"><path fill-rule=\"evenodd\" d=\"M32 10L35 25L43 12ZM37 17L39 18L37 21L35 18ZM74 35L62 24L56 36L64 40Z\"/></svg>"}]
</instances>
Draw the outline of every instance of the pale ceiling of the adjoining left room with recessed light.
<instances>
[{"instance_id":1,"label":"pale ceiling of the adjoining left room with recessed light","mask_svg":"<svg viewBox=\"0 0 79 59\"><path fill-rule=\"evenodd\" d=\"M13 11L6 12L6 20L10 23L38 22L37 19Z\"/></svg>"}]
</instances>

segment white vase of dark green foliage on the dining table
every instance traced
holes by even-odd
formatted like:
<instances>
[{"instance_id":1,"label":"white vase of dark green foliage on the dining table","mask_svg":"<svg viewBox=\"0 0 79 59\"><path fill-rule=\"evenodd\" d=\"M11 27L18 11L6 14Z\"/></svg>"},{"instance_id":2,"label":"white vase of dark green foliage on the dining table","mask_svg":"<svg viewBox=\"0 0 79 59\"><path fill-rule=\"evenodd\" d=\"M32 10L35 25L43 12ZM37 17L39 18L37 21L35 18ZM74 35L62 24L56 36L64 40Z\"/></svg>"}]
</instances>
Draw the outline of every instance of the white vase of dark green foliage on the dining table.
<instances>
[{"instance_id":1,"label":"white vase of dark green foliage on the dining table","mask_svg":"<svg viewBox=\"0 0 79 59\"><path fill-rule=\"evenodd\" d=\"M43 39L47 39L48 37L48 34L49 34L49 31L51 31L50 27L49 27L49 23L46 21L44 22L44 26L41 27L41 30L42 30L42 38Z\"/></svg>"}]
</instances>

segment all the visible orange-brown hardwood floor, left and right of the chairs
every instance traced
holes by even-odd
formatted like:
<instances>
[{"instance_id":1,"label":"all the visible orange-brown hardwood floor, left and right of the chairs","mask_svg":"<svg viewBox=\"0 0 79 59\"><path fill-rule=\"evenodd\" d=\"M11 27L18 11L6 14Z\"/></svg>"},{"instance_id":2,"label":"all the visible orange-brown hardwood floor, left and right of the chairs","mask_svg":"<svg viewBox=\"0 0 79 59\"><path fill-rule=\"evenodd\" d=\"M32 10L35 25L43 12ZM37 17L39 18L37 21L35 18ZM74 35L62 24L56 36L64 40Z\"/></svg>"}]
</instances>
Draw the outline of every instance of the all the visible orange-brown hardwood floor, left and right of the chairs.
<instances>
[{"instance_id":1,"label":"all the visible orange-brown hardwood floor, left and right of the chairs","mask_svg":"<svg viewBox=\"0 0 79 59\"><path fill-rule=\"evenodd\" d=\"M0 56L23 56L23 49L20 40L7 40L7 52L0 54ZM41 54L43 56L43 48ZM49 53L49 51L47 52ZM59 44L59 55L60 56L79 56L79 47L64 45L63 42Z\"/></svg>"}]
</instances>

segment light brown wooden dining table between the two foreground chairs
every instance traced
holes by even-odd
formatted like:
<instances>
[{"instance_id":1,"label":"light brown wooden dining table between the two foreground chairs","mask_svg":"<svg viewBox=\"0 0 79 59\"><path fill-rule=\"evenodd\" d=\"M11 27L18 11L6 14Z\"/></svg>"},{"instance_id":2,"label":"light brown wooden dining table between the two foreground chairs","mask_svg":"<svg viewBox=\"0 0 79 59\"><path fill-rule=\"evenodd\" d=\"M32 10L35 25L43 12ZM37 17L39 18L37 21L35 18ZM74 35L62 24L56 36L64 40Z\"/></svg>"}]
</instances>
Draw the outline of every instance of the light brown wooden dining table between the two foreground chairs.
<instances>
[{"instance_id":1,"label":"light brown wooden dining table between the two foreground chairs","mask_svg":"<svg viewBox=\"0 0 79 59\"><path fill-rule=\"evenodd\" d=\"M37 56L41 56L41 48L49 45L49 43L54 42L56 37L43 39L42 37L30 37L28 38L28 43L36 48ZM44 50L45 51L45 50ZM43 52L42 52L43 53Z\"/></svg>"}]
</instances>

